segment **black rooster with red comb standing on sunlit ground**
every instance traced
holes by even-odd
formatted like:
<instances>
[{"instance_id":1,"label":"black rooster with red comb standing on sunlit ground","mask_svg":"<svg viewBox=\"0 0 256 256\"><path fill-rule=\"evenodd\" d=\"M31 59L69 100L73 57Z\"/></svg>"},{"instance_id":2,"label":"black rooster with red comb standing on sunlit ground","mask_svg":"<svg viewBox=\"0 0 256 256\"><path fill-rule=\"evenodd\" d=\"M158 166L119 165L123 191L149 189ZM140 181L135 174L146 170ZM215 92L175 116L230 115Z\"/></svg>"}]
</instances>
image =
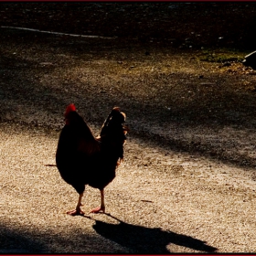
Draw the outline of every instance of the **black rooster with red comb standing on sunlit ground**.
<instances>
[{"instance_id":1,"label":"black rooster with red comb standing on sunlit ground","mask_svg":"<svg viewBox=\"0 0 256 256\"><path fill-rule=\"evenodd\" d=\"M101 206L91 212L105 212L104 187L112 182L115 169L123 160L123 144L128 131L123 125L126 116L118 107L113 108L100 135L94 137L74 104L69 104L64 115L65 126L59 134L56 164L60 176L79 194L76 208L67 213L84 214L80 207L86 185L101 191Z\"/></svg>"}]
</instances>

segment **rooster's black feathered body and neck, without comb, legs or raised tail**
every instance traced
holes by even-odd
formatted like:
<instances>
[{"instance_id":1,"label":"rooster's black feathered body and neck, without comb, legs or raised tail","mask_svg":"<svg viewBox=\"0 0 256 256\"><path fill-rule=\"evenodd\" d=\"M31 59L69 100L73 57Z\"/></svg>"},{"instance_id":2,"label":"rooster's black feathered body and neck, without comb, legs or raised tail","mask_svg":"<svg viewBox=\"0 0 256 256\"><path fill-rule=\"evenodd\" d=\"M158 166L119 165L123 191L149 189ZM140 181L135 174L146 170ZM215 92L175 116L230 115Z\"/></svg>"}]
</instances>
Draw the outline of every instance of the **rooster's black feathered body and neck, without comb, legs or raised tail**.
<instances>
[{"instance_id":1,"label":"rooster's black feathered body and neck, without comb, legs or raised tail","mask_svg":"<svg viewBox=\"0 0 256 256\"><path fill-rule=\"evenodd\" d=\"M103 189L115 177L117 162L123 155L120 152L123 138L114 140L114 134L108 134L104 133L102 141L97 140L78 112L66 116L66 125L59 135L56 163L60 176L79 194L85 185Z\"/></svg>"}]
</instances>

